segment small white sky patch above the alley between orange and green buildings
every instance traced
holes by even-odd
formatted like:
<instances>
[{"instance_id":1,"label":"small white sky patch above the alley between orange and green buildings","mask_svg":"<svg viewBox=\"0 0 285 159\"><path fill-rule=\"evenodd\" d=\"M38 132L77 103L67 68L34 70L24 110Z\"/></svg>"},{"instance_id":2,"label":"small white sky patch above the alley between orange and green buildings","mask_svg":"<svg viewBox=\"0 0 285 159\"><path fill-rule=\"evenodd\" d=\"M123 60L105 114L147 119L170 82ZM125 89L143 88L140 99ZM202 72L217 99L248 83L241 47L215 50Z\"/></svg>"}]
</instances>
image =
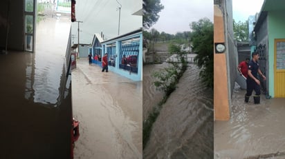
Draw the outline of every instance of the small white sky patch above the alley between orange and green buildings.
<instances>
[{"instance_id":1,"label":"small white sky patch above the alley between orange and green buildings","mask_svg":"<svg viewBox=\"0 0 285 159\"><path fill-rule=\"evenodd\" d=\"M264 0L232 0L232 18L245 22L250 15L260 12Z\"/></svg>"}]
</instances>

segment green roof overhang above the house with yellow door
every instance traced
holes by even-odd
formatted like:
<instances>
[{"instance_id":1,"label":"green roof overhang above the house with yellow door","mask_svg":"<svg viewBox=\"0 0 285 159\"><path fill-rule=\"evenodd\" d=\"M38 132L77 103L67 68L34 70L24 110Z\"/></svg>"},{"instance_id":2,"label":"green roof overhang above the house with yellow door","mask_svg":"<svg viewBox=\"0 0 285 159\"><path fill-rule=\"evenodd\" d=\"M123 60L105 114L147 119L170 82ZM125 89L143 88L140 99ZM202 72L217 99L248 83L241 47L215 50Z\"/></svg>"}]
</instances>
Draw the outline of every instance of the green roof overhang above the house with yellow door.
<instances>
[{"instance_id":1,"label":"green roof overhang above the house with yellow door","mask_svg":"<svg viewBox=\"0 0 285 159\"><path fill-rule=\"evenodd\" d=\"M285 1L281 0L264 0L264 3L261 7L259 17L257 19L257 23L255 24L255 31L259 30L262 22L267 17L268 11L273 10L285 10Z\"/></svg>"}]
</instances>

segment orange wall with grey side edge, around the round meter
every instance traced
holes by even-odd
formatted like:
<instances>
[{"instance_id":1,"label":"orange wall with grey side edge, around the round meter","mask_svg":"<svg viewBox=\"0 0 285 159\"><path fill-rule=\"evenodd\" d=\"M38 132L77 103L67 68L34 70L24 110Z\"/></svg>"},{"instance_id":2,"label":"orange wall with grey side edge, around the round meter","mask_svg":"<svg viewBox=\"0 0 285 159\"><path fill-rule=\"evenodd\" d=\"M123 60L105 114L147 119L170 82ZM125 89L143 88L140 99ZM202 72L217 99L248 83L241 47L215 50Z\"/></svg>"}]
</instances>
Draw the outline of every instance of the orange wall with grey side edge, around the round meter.
<instances>
[{"instance_id":1,"label":"orange wall with grey side edge, around the round meter","mask_svg":"<svg viewBox=\"0 0 285 159\"><path fill-rule=\"evenodd\" d=\"M214 53L214 118L229 120L238 65L232 23L232 0L214 1L214 43L226 45L224 53Z\"/></svg>"}]
</instances>

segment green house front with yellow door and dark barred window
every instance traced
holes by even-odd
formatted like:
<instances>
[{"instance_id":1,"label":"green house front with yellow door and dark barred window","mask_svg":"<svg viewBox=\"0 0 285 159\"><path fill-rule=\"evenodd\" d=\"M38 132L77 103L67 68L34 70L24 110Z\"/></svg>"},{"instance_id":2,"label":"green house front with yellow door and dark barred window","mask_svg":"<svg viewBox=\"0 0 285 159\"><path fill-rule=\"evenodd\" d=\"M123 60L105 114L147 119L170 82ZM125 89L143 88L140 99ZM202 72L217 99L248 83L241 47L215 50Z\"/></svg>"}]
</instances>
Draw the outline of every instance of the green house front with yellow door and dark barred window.
<instances>
[{"instance_id":1,"label":"green house front with yellow door and dark barred window","mask_svg":"<svg viewBox=\"0 0 285 159\"><path fill-rule=\"evenodd\" d=\"M259 52L259 68L266 81L259 78L264 92L285 97L285 1L264 0L255 27L250 30ZM253 50L253 49L252 49Z\"/></svg>"}]
</instances>

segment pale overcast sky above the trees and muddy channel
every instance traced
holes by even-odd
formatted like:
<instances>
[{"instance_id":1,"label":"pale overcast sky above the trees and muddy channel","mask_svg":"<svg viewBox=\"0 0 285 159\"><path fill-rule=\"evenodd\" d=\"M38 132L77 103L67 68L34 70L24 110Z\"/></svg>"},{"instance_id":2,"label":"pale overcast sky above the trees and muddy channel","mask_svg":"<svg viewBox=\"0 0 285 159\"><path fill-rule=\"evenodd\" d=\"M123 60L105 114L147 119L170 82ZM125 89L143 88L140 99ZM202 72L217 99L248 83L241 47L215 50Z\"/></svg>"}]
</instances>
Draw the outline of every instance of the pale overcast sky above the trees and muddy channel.
<instances>
[{"instance_id":1,"label":"pale overcast sky above the trees and muddy channel","mask_svg":"<svg viewBox=\"0 0 285 159\"><path fill-rule=\"evenodd\" d=\"M164 9L159 13L160 18L151 27L158 32L176 34L190 31L190 23L204 17L213 21L214 0L160 0Z\"/></svg>"}]
</instances>

